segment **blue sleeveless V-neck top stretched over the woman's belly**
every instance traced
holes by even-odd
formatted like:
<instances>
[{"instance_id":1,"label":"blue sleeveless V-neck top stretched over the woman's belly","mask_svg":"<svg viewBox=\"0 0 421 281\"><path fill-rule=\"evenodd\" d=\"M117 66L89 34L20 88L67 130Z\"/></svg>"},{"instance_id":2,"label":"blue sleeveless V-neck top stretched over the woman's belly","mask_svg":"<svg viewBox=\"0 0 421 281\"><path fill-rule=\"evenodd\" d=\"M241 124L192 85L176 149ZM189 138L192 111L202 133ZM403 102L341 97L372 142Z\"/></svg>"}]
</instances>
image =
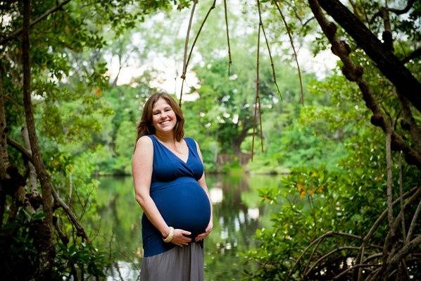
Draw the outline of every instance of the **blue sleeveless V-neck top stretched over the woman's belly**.
<instances>
[{"instance_id":1,"label":"blue sleeveless V-neck top stretched over the woman's belly","mask_svg":"<svg viewBox=\"0 0 421 281\"><path fill-rule=\"evenodd\" d=\"M191 232L194 237L205 232L211 218L211 204L203 188L197 182L203 175L203 164L199 158L196 142L184 138L189 147L189 157L184 163L154 135L153 171L150 195L163 216L165 223L174 228ZM161 232L143 214L142 242L144 257L162 254L176 245L163 242ZM199 242L203 248L203 241Z\"/></svg>"}]
</instances>

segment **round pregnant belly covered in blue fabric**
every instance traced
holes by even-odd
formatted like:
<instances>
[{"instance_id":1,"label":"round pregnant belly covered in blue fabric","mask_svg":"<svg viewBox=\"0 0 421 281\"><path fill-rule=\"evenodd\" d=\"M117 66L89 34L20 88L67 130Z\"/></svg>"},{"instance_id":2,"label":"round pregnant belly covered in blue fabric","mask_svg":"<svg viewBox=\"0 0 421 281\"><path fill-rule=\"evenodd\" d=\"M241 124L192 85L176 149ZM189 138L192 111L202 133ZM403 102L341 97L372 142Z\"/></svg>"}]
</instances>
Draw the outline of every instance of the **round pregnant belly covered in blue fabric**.
<instances>
[{"instance_id":1,"label":"round pregnant belly covered in blue fabric","mask_svg":"<svg viewBox=\"0 0 421 281\"><path fill-rule=\"evenodd\" d=\"M211 204L198 182L177 182L151 192L151 197L167 225L188 230L191 237L205 232L211 218Z\"/></svg>"}]
</instances>

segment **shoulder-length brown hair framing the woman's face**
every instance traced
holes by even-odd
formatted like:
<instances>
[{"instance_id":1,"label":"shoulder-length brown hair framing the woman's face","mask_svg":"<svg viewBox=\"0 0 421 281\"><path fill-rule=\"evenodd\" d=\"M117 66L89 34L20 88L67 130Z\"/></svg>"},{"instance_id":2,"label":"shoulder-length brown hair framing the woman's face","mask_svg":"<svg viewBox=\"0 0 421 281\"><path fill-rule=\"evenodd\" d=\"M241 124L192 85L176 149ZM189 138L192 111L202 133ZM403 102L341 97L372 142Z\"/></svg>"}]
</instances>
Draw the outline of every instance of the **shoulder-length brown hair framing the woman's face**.
<instances>
[{"instance_id":1,"label":"shoulder-length brown hair framing the woman's face","mask_svg":"<svg viewBox=\"0 0 421 281\"><path fill-rule=\"evenodd\" d=\"M177 102L172 99L172 96L169 94L165 92L156 92L149 96L149 99L143 107L142 118L137 124L136 142L140 137L155 134L155 127L152 125L153 104L161 98L168 102L177 117L177 123L175 123L174 127L174 139L177 140L177 142L180 142L182 137L184 137L184 116L180 106L178 106ZM134 146L136 146L136 144Z\"/></svg>"}]
</instances>

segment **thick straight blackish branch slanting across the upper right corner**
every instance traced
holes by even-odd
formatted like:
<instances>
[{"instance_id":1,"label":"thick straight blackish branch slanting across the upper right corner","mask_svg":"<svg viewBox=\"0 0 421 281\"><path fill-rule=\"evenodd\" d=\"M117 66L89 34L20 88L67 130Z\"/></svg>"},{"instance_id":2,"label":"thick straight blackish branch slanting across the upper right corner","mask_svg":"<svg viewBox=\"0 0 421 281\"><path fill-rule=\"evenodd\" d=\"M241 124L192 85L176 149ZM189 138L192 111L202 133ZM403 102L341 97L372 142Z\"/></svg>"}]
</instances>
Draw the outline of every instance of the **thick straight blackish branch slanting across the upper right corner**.
<instances>
[{"instance_id":1,"label":"thick straight blackish branch slanting across the upper right corner","mask_svg":"<svg viewBox=\"0 0 421 281\"><path fill-rule=\"evenodd\" d=\"M410 70L339 0L319 0L319 3L376 63L380 72L394 84L398 92L406 96L421 112L421 95L418 94L421 92L421 84Z\"/></svg>"}]
</instances>

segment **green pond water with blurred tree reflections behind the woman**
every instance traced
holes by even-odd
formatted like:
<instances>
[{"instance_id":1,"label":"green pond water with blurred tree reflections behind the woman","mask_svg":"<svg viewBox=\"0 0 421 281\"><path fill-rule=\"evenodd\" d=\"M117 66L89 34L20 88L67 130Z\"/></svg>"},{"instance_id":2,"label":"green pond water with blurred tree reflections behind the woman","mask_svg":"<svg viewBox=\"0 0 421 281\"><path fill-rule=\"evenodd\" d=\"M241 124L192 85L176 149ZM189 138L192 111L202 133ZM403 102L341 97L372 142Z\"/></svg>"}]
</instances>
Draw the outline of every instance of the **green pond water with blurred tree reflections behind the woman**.
<instances>
[{"instance_id":1,"label":"green pond water with blurred tree reflections behind the woman","mask_svg":"<svg viewBox=\"0 0 421 281\"><path fill-rule=\"evenodd\" d=\"M88 220L98 229L96 246L110 249L116 259L107 280L139 280L142 209L134 200L132 178L99 180L99 213ZM279 187L280 177L208 175L206 182L213 201L214 228L205 241L205 278L239 280L244 267L238 253L253 246L252 236L258 227L270 225L268 205L260 204L258 189Z\"/></svg>"}]
</instances>

